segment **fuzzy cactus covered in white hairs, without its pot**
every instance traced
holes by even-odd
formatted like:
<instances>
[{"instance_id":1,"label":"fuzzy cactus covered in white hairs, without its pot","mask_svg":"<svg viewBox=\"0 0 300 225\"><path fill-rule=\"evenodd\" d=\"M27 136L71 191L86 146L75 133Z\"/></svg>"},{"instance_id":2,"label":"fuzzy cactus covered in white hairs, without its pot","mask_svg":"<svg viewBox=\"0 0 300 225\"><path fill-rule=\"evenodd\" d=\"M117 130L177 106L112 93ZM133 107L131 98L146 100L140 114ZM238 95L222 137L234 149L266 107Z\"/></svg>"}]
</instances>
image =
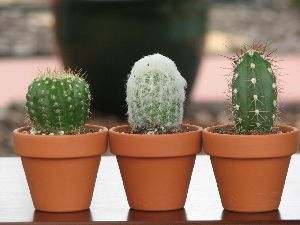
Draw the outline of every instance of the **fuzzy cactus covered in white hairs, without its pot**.
<instances>
[{"instance_id":1,"label":"fuzzy cactus covered in white hairs, without its pot","mask_svg":"<svg viewBox=\"0 0 300 225\"><path fill-rule=\"evenodd\" d=\"M186 81L175 63L160 54L137 61L127 82L128 121L134 133L181 129Z\"/></svg>"}]
</instances>

